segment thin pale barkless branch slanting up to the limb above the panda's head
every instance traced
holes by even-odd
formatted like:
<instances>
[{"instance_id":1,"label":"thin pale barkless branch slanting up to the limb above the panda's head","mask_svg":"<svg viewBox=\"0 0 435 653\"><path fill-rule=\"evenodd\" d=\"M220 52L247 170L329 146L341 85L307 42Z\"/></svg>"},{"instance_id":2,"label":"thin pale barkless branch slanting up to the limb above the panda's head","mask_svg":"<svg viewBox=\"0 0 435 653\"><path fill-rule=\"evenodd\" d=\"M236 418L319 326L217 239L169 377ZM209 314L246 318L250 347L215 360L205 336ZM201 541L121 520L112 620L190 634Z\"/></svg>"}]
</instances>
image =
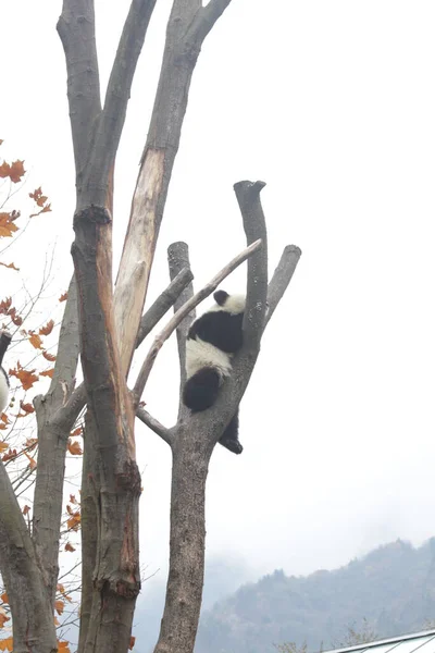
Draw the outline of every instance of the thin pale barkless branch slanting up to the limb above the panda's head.
<instances>
[{"instance_id":1,"label":"thin pale barkless branch slanting up to the limb above the panda's head","mask_svg":"<svg viewBox=\"0 0 435 653\"><path fill-rule=\"evenodd\" d=\"M257 252L261 247L261 241L256 241L244 249L240 254L238 254L229 263L225 266L213 279L202 288L200 289L191 299L189 299L182 308L177 310L177 312L173 316L173 318L167 322L166 326L157 335L152 347L150 348L146 359L144 360L142 367L140 368L140 372L137 377L137 381L135 387L133 390L133 394L136 401L136 404L140 401L142 395L145 385L148 381L148 377L151 372L152 366L154 365L157 355L162 348L164 342L170 337L173 331L177 328L179 322L191 311L192 308L196 308L198 304L200 304L206 297L211 295L213 291L219 286L219 284L231 274L238 266L240 266L246 259L249 259L254 252Z\"/></svg>"}]
</instances>

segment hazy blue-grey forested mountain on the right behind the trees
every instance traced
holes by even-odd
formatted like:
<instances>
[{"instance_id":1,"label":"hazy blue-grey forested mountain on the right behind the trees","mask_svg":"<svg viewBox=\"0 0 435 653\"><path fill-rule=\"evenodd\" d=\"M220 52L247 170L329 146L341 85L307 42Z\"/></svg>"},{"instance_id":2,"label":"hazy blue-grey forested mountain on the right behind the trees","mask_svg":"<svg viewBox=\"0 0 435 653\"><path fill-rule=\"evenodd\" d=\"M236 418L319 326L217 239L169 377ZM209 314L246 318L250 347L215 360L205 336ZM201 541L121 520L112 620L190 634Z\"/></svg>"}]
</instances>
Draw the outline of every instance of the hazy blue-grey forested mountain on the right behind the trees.
<instances>
[{"instance_id":1,"label":"hazy blue-grey forested mountain on the right behind the trees","mask_svg":"<svg viewBox=\"0 0 435 653\"><path fill-rule=\"evenodd\" d=\"M276 570L202 613L195 653L276 653L274 643L339 645L366 619L376 637L422 630L435 618L435 538L398 540L333 571Z\"/></svg>"}]
</instances>

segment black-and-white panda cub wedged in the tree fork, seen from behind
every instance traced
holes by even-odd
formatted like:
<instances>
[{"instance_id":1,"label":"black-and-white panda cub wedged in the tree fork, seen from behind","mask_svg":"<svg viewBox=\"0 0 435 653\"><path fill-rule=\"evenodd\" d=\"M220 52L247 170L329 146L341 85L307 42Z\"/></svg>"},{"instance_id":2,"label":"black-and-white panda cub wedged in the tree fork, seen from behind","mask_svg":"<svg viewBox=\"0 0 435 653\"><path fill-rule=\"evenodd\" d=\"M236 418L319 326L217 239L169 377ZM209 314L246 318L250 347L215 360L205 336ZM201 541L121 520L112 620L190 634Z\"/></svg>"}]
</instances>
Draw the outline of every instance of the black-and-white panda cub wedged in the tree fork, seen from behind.
<instances>
[{"instance_id":1,"label":"black-and-white panda cub wedged in the tree fork, seen from behind","mask_svg":"<svg viewBox=\"0 0 435 653\"><path fill-rule=\"evenodd\" d=\"M213 406L224 380L232 373L231 359L243 344L246 297L216 291L215 305L195 320L186 342L186 384L183 402L192 412ZM235 454L238 441L238 407L220 443Z\"/></svg>"}]
</instances>

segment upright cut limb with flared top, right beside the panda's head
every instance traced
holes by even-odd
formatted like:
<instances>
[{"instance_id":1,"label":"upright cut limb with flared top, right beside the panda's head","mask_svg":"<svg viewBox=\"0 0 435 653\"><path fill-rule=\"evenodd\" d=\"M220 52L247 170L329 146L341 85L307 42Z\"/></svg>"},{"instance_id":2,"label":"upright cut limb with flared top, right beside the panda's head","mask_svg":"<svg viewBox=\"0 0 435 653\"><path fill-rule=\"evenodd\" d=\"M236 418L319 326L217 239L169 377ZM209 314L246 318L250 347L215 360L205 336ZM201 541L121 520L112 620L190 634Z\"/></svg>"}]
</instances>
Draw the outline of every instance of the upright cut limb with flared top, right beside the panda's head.
<instances>
[{"instance_id":1,"label":"upright cut limb with flared top, right beside the panda's head","mask_svg":"<svg viewBox=\"0 0 435 653\"><path fill-rule=\"evenodd\" d=\"M244 319L244 347L259 349L268 297L268 235L260 193L264 182L234 184L248 245L261 238L263 246L248 260L248 286Z\"/></svg>"}]
</instances>

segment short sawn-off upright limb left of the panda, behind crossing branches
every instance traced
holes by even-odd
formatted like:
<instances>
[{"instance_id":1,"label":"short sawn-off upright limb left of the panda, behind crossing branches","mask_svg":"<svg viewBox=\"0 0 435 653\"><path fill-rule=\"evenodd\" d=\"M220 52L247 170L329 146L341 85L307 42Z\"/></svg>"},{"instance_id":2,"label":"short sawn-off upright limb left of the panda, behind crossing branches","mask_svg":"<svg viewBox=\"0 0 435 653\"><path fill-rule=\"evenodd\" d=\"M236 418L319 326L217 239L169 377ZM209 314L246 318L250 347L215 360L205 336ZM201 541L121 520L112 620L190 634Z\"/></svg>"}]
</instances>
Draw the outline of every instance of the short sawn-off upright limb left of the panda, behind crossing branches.
<instances>
[{"instance_id":1,"label":"short sawn-off upright limb left of the panda, behind crossing branches","mask_svg":"<svg viewBox=\"0 0 435 653\"><path fill-rule=\"evenodd\" d=\"M170 278L174 279L178 270L190 270L189 248L186 243L172 243L167 248L167 264L170 268ZM191 275L194 278L194 275ZM194 296L194 284L190 283L184 288L178 299L174 304L174 312L177 312ZM176 330L178 360L179 360L179 385L181 391L186 380L186 338L191 322L195 320L195 308L182 320ZM179 395L181 396L181 395ZM179 405L182 410L182 403Z\"/></svg>"}]
</instances>

